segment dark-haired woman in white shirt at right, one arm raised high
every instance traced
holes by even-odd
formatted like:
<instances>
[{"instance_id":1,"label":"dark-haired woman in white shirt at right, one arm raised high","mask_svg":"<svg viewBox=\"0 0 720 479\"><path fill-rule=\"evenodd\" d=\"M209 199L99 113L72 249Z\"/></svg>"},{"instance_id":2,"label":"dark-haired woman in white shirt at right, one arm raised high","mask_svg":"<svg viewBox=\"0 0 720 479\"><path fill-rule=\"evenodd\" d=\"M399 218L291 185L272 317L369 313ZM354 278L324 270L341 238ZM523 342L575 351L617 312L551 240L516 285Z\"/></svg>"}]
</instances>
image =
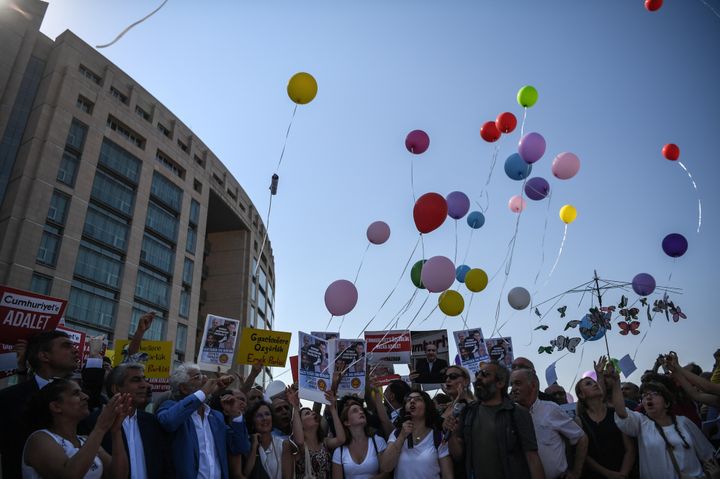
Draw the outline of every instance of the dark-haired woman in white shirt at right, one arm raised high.
<instances>
[{"instance_id":1,"label":"dark-haired woman in white shirt at right, one arm raised high","mask_svg":"<svg viewBox=\"0 0 720 479\"><path fill-rule=\"evenodd\" d=\"M673 397L668 389L655 382L642 385L644 415L625 408L620 376L612 364L605 375L613 381L615 423L628 436L638 438L640 477L704 478L703 462L712 460L712 445L692 421L670 413Z\"/></svg>"}]
</instances>

